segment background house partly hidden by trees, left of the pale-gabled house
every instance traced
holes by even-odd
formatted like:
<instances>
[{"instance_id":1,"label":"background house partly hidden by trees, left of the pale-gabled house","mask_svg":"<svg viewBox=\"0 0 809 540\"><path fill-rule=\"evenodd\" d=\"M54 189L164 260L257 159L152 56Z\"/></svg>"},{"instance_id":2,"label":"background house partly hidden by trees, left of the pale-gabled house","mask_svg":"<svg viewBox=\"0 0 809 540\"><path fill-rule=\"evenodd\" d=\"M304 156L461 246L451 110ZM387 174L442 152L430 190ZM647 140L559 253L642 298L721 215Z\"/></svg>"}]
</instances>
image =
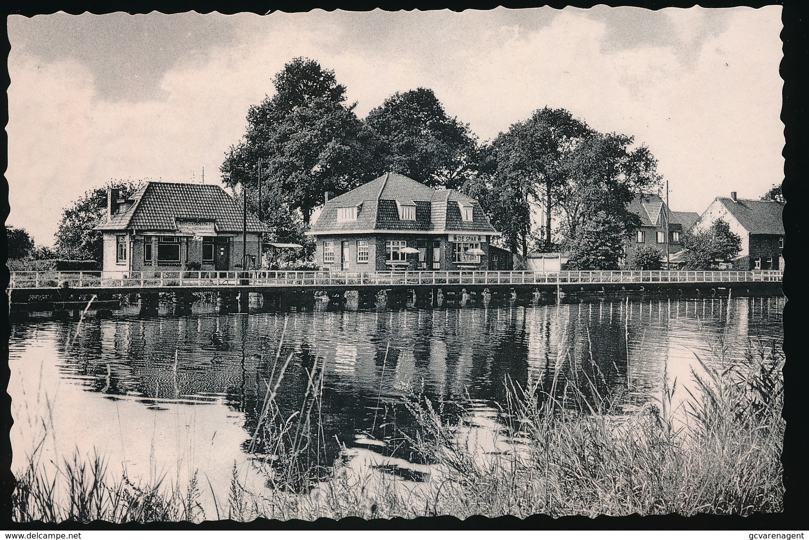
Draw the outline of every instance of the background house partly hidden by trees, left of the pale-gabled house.
<instances>
[{"instance_id":1,"label":"background house partly hidden by trees, left of the pale-gabled house","mask_svg":"<svg viewBox=\"0 0 809 540\"><path fill-rule=\"evenodd\" d=\"M676 253L683 249L683 234L691 229L700 218L696 212L672 212L666 201L659 195L642 193L627 206L630 212L641 220L641 226L626 239L625 260L632 260L634 251L642 247L654 247L666 255L666 235L668 252ZM668 231L666 230L668 217Z\"/></svg>"}]
</instances>

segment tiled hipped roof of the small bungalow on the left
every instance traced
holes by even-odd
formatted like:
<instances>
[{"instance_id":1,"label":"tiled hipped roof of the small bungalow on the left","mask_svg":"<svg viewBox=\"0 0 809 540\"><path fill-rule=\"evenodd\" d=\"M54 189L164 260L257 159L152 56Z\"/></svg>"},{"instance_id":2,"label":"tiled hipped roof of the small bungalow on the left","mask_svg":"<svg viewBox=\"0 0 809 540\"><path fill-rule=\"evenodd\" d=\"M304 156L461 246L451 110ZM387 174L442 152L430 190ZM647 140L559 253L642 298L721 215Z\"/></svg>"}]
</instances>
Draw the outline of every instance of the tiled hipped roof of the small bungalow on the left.
<instances>
[{"instance_id":1,"label":"tiled hipped roof of the small bungalow on the left","mask_svg":"<svg viewBox=\"0 0 809 540\"><path fill-rule=\"evenodd\" d=\"M116 214L98 230L177 230L176 219L215 221L221 232L237 232L243 226L243 208L222 188L210 184L148 182L132 198L129 210ZM248 232L267 227L248 213Z\"/></svg>"}]
</instances>

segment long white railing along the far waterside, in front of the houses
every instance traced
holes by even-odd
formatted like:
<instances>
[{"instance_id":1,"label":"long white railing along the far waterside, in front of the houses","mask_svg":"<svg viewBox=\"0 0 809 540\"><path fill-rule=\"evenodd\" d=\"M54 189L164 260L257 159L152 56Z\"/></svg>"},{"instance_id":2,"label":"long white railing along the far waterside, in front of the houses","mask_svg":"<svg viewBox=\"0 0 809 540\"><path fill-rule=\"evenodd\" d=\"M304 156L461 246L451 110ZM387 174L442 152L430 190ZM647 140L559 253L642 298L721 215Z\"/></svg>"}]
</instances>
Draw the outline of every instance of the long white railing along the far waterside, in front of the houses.
<instances>
[{"instance_id":1,"label":"long white railing along the far waterside, in front of the houses","mask_svg":"<svg viewBox=\"0 0 809 540\"><path fill-rule=\"evenodd\" d=\"M11 272L9 289L119 289L143 287L232 287L271 285L563 285L632 283L739 283L781 281L781 270L562 270L320 272Z\"/></svg>"}]
</instances>

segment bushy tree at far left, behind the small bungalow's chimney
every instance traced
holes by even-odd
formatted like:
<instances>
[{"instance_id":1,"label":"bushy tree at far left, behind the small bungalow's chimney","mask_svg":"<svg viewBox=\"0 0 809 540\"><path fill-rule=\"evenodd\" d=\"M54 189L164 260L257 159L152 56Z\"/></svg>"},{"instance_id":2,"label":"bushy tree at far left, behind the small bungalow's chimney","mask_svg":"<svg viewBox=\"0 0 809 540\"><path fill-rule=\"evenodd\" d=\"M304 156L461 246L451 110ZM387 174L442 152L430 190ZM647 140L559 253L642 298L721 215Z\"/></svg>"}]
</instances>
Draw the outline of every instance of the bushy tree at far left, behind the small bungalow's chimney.
<instances>
[{"instance_id":1,"label":"bushy tree at far left, behind the small bungalow's chimney","mask_svg":"<svg viewBox=\"0 0 809 540\"><path fill-rule=\"evenodd\" d=\"M61 214L56 232L56 254L62 259L100 261L104 254L101 231L93 227L107 219L107 188L121 190L130 196L139 187L131 181L113 180L108 186L91 189Z\"/></svg>"}]
</instances>

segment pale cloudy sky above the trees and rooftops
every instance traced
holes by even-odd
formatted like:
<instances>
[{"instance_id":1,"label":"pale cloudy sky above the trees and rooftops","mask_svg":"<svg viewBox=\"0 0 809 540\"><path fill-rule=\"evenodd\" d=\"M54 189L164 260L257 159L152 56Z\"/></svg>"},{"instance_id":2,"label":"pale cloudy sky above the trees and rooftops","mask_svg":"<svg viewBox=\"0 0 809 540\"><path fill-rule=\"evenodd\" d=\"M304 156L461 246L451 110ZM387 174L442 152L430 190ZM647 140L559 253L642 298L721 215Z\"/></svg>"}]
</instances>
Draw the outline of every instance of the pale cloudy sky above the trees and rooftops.
<instances>
[{"instance_id":1,"label":"pale cloudy sky above the trees and rooftops","mask_svg":"<svg viewBox=\"0 0 809 540\"><path fill-rule=\"evenodd\" d=\"M62 209L110 179L218 182L299 56L360 117L424 86L480 141L565 108L646 144L671 209L701 213L783 179L780 32L781 6L11 15L6 223L50 246Z\"/></svg>"}]
</instances>

